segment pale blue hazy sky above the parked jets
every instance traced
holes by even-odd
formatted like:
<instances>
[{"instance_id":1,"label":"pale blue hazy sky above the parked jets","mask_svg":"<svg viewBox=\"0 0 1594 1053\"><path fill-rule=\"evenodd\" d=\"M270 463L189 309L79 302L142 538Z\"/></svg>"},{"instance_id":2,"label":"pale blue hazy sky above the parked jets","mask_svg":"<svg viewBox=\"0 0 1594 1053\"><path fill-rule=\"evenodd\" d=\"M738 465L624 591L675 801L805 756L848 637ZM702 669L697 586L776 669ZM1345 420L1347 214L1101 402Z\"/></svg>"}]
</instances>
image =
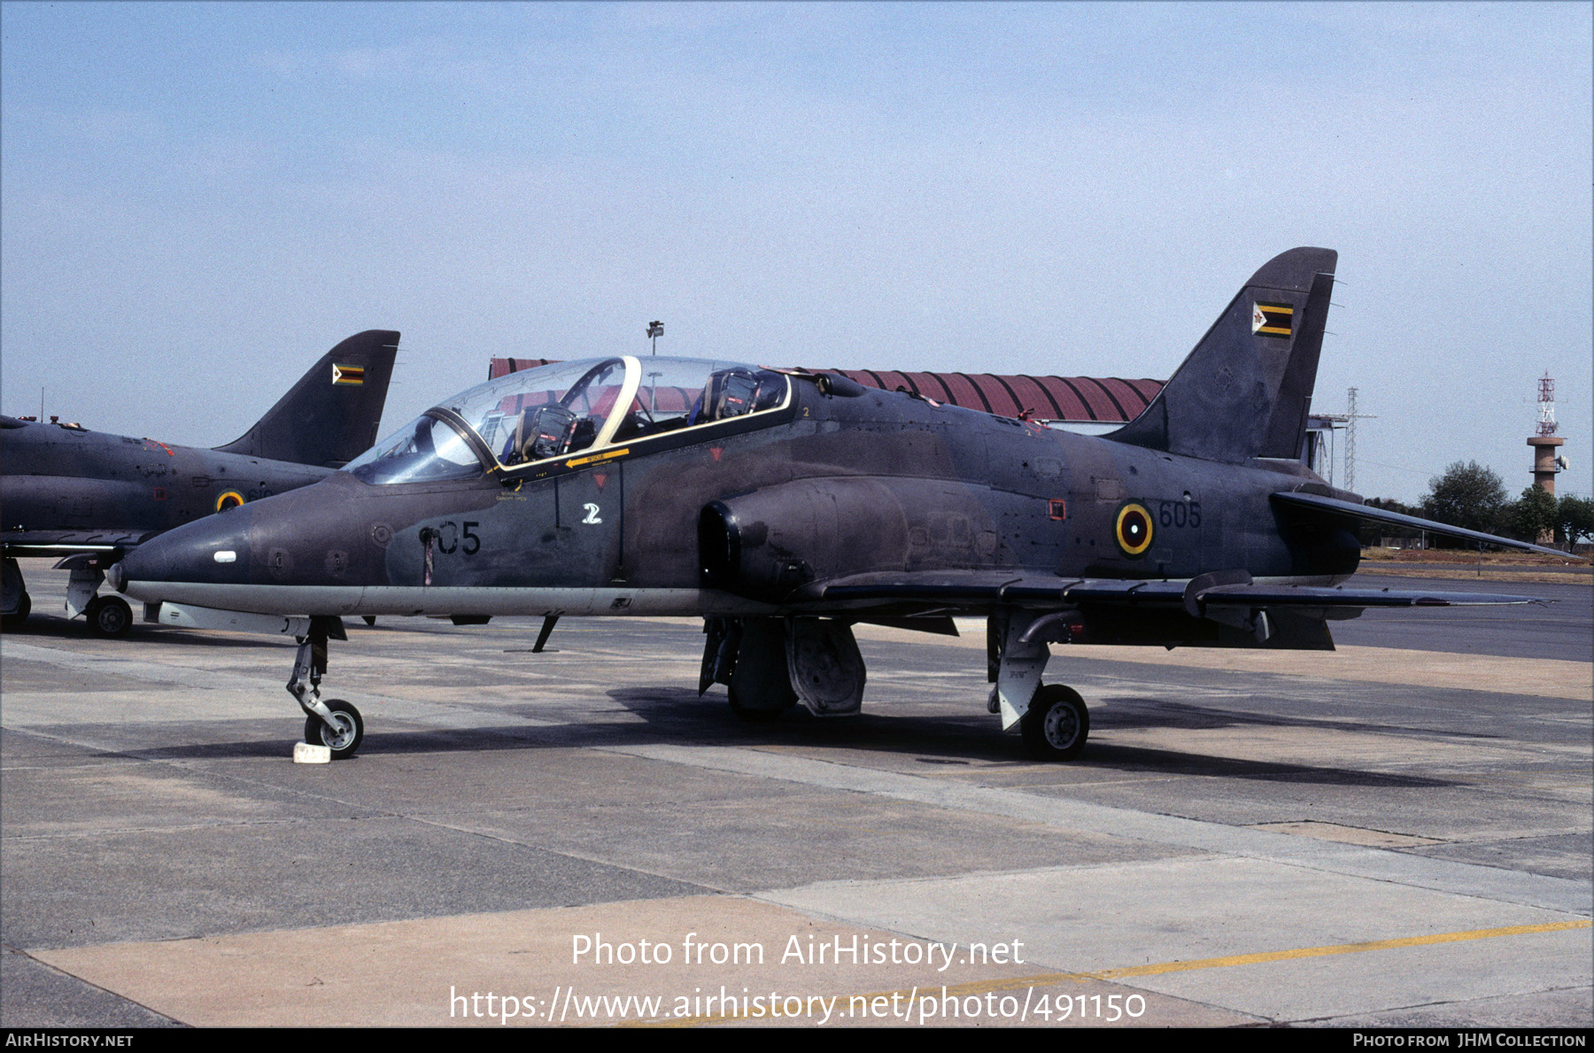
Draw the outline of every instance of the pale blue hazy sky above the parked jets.
<instances>
[{"instance_id":1,"label":"pale blue hazy sky above the parked jets","mask_svg":"<svg viewBox=\"0 0 1594 1053\"><path fill-rule=\"evenodd\" d=\"M491 355L1167 378L1341 253L1356 489L1588 494L1591 6L0 5L6 413L218 444L403 331Z\"/></svg>"}]
</instances>

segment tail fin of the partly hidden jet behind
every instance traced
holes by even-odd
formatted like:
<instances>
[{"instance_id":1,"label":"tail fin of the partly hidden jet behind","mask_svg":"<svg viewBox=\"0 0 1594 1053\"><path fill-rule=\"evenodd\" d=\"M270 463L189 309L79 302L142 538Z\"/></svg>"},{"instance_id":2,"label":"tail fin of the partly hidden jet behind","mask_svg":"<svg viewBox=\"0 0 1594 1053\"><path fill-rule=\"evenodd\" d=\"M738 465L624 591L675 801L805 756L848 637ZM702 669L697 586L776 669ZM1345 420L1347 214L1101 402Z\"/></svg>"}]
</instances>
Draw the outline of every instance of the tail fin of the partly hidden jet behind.
<instances>
[{"instance_id":1,"label":"tail fin of the partly hidden jet behind","mask_svg":"<svg viewBox=\"0 0 1594 1053\"><path fill-rule=\"evenodd\" d=\"M322 355L242 438L215 449L343 467L376 441L397 347L392 330L355 333Z\"/></svg>"}]
</instances>

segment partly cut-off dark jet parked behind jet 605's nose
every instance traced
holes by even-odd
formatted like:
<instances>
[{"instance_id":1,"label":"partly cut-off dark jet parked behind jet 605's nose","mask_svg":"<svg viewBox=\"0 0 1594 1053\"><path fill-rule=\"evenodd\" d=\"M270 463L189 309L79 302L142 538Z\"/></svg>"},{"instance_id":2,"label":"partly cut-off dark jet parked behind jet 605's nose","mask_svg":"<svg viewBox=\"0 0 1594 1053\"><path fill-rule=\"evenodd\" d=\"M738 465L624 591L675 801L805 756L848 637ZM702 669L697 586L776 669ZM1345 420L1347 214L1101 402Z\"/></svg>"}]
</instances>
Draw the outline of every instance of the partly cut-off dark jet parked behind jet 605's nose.
<instances>
[{"instance_id":1,"label":"partly cut-off dark jet parked behind jet 605's nose","mask_svg":"<svg viewBox=\"0 0 1594 1053\"><path fill-rule=\"evenodd\" d=\"M105 567L150 537L317 483L376 441L398 333L370 330L311 366L242 438L215 449L0 416L5 624L33 602L19 556L65 556L67 615L97 636L132 624L128 601L97 596Z\"/></svg>"}]
</instances>

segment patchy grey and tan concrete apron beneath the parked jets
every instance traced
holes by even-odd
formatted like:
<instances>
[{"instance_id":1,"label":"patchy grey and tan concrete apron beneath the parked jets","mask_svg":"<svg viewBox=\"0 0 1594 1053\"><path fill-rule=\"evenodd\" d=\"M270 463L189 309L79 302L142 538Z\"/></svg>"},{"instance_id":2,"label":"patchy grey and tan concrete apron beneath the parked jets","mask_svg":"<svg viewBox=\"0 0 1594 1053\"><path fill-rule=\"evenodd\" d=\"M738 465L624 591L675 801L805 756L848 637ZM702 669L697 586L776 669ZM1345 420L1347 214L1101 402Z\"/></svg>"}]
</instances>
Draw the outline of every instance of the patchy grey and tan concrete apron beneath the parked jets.
<instances>
[{"instance_id":1,"label":"patchy grey and tan concrete apron beneath the parked jets","mask_svg":"<svg viewBox=\"0 0 1594 1053\"><path fill-rule=\"evenodd\" d=\"M365 746L295 765L292 640L96 640L24 573L3 1026L1594 1023L1586 585L1054 647L1068 765L985 712L977 623L859 628L864 715L765 725L684 620L354 623Z\"/></svg>"}]
</instances>

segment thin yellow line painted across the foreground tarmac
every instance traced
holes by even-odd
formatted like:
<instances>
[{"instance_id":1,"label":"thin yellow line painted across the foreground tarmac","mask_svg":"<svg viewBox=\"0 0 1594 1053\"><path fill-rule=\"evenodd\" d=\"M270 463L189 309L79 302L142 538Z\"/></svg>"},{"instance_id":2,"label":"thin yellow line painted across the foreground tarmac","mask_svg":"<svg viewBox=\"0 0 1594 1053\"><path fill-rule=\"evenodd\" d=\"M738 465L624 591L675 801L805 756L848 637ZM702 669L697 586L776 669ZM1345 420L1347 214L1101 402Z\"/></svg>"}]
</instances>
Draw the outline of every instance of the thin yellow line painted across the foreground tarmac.
<instances>
[{"instance_id":1,"label":"thin yellow line painted across the foreground tarmac","mask_svg":"<svg viewBox=\"0 0 1594 1053\"><path fill-rule=\"evenodd\" d=\"M1304 946L1291 951L1262 951L1259 954L1227 954L1224 957L1196 957L1181 962L1157 962L1152 965L1125 965L1122 969L1101 969L1086 973L1038 973L1033 977L1011 977L1007 980L976 980L947 988L913 988L912 991L870 991L867 994L832 996L835 1007L864 1004L874 999L912 999L921 992L925 997L964 997L971 994L995 994L998 991L1022 991L1023 988L1050 988L1060 983L1078 983L1081 980L1124 980L1129 977L1156 977L1160 973L1191 972L1196 969L1229 969L1234 965L1259 965L1262 962L1286 962L1302 957L1328 957L1331 954L1361 954L1364 951L1392 951L1408 946L1433 946L1438 943L1465 943L1468 940L1492 940L1495 937L1521 937L1538 932L1565 932L1568 929L1588 929L1594 919L1554 921L1541 926L1505 926L1500 929L1468 929L1465 932L1436 932L1427 937L1401 937L1398 940L1368 940L1363 943L1331 943L1328 946ZM932 994L934 992L934 994ZM792 996L799 997L799 996ZM810 999L819 996L802 996L807 1005ZM679 1016L658 1021L628 1021L622 1028L697 1028L700 1024L719 1024L727 1021L746 1021L748 1016L736 1013L714 1013L709 1016Z\"/></svg>"}]
</instances>

